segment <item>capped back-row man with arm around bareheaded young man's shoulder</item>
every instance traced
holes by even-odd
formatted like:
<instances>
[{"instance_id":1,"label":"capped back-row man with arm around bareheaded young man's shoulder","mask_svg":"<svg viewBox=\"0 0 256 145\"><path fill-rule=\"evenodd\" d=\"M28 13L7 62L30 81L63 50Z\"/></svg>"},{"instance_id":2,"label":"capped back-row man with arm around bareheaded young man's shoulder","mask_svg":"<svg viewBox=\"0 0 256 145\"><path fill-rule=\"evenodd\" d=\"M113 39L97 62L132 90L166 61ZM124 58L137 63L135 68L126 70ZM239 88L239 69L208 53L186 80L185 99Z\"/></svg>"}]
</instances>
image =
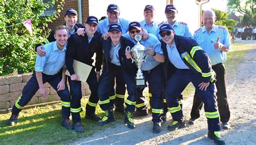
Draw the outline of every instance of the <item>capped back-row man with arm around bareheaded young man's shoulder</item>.
<instances>
[{"instance_id":1,"label":"capped back-row man with arm around bareheaded young man's shoulder","mask_svg":"<svg viewBox=\"0 0 256 145\"><path fill-rule=\"evenodd\" d=\"M77 11L76 10L74 10L74 9L66 10L64 20L65 20L65 24L63 24L63 25L65 25L68 28L69 37L73 33L78 33L78 35L84 36L84 32L83 32L84 26L82 24L77 23ZM36 45L36 52L38 53L38 55L44 56L45 52L43 50L43 45L48 44L49 42L53 42L53 41L56 41L56 39L54 38L54 31L52 30L49 37L47 38L47 40L45 42L42 42L41 44Z\"/></svg>"}]
</instances>

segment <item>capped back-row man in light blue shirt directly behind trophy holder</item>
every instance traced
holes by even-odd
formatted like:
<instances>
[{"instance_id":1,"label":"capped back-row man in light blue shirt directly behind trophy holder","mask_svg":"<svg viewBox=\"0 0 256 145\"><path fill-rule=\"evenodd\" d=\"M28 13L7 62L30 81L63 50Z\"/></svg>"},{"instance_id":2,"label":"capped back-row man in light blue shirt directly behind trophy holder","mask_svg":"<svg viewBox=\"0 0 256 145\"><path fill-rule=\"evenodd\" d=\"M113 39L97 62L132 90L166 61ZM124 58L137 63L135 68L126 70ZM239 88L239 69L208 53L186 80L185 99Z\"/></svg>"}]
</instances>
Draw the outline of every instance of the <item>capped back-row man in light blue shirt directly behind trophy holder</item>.
<instances>
[{"instance_id":1,"label":"capped back-row man in light blue shirt directly behind trophy holder","mask_svg":"<svg viewBox=\"0 0 256 145\"><path fill-rule=\"evenodd\" d=\"M140 21L140 25L144 30L147 30L147 33L154 34L157 36L157 27L159 22L154 20L156 11L154 10L153 5L146 5L144 9L144 20Z\"/></svg>"}]
</instances>

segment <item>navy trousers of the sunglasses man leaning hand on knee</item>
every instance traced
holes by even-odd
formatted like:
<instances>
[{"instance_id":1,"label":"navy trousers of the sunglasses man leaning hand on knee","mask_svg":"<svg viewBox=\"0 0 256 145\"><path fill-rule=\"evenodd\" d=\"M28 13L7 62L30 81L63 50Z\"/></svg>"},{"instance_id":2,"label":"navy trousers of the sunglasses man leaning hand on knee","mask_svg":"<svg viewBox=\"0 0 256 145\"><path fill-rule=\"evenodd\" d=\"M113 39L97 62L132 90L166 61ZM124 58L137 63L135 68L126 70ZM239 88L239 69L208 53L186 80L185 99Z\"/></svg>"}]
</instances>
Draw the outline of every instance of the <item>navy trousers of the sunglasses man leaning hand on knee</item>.
<instances>
[{"instance_id":1,"label":"navy trousers of the sunglasses man leaning hand on knee","mask_svg":"<svg viewBox=\"0 0 256 145\"><path fill-rule=\"evenodd\" d=\"M194 73L190 69L176 69L166 84L165 97L173 120L183 120L183 112L179 105L178 96L181 94L181 92L183 92L190 82L192 82L199 97L205 104L204 107L208 131L220 131L220 120L215 96L217 89L215 88L214 84L210 83L206 91L200 90L198 85L203 82L203 77Z\"/></svg>"}]
</instances>

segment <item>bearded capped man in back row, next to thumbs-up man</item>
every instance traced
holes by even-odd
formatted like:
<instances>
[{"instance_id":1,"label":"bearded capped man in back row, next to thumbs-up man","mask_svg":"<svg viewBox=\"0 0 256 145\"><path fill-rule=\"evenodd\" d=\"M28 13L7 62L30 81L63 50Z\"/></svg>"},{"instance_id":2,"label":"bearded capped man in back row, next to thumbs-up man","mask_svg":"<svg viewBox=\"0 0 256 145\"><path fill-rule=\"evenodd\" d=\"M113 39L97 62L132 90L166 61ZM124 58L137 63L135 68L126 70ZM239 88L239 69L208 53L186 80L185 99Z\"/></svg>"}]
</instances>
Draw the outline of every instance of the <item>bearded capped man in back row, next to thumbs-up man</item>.
<instances>
[{"instance_id":1,"label":"bearded capped man in back row, next to thumbs-up man","mask_svg":"<svg viewBox=\"0 0 256 145\"><path fill-rule=\"evenodd\" d=\"M175 6L173 4L166 5L165 16L167 18L167 21L165 21L164 24L170 24L173 27L176 35L182 35L182 36L191 38L192 34L191 34L187 24L176 20L177 13L178 13L178 10L175 8ZM160 26L161 25L159 25L157 28L157 38L159 40L161 39L161 36L159 35Z\"/></svg>"}]
</instances>

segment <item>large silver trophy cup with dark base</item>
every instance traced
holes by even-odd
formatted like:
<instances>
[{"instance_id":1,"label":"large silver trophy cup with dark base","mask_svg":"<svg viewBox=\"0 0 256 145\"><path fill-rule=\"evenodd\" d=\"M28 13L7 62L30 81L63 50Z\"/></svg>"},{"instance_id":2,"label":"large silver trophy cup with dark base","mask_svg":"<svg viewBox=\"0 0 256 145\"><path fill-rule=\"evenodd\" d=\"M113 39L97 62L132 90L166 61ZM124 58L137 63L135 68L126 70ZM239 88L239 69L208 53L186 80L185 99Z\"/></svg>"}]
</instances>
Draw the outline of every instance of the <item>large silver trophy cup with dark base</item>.
<instances>
[{"instance_id":1,"label":"large silver trophy cup with dark base","mask_svg":"<svg viewBox=\"0 0 256 145\"><path fill-rule=\"evenodd\" d=\"M131 49L127 46L126 52L132 52L132 63L135 62L138 67L136 77L134 78L134 86L136 88L145 88L147 85L140 67L142 67L143 62L146 61L146 48L139 43L139 41L142 40L141 35L135 35L134 40L137 41L137 44Z\"/></svg>"}]
</instances>

